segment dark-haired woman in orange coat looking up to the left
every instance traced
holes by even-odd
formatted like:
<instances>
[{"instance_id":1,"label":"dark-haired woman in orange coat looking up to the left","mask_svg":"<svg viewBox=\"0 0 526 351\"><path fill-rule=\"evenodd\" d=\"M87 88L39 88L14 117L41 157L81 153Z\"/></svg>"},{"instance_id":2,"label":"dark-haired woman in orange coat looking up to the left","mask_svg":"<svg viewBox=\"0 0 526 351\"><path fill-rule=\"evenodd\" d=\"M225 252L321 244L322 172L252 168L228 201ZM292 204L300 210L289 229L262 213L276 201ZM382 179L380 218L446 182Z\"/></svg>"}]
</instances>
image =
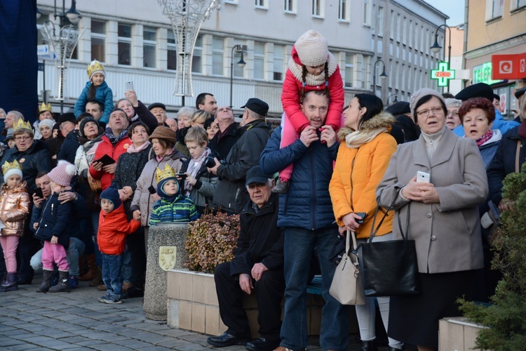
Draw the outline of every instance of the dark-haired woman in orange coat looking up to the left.
<instances>
[{"instance_id":1,"label":"dark-haired woman in orange coat looking up to the left","mask_svg":"<svg viewBox=\"0 0 526 351\"><path fill-rule=\"evenodd\" d=\"M375 95L358 94L344 111L345 127L340 129L338 157L330 180L329 192L340 234L356 232L358 243L365 242L372 230L377 202L375 190L396 151L396 140L389 134L395 121L391 114L382 112L382 100ZM359 224L365 213L363 223ZM378 218L376 223L379 223ZM391 240L393 214L389 213L373 241ZM389 297L377 298L382 320L387 330ZM356 306L360 326L361 350L376 350L375 302L365 298L365 305ZM392 349L403 344L389 338Z\"/></svg>"}]
</instances>

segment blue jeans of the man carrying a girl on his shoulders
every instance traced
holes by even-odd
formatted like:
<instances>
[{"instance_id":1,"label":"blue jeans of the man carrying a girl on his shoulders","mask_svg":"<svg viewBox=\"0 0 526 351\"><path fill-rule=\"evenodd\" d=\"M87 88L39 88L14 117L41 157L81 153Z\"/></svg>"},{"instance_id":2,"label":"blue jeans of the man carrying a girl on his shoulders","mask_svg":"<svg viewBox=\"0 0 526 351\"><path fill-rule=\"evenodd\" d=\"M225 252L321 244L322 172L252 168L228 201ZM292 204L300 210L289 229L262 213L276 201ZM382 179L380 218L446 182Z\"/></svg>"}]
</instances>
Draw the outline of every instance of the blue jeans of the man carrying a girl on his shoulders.
<instances>
[{"instance_id":1,"label":"blue jeans of the man carrying a girl on his shoulders","mask_svg":"<svg viewBox=\"0 0 526 351\"><path fill-rule=\"evenodd\" d=\"M292 350L307 347L306 286L309 284L310 260L314 249L321 268L322 296L320 344L323 350L347 350L349 308L330 296L329 289L336 266L328 256L337 240L337 229L305 230L285 228L284 271L285 312L281 326L281 346Z\"/></svg>"}]
</instances>

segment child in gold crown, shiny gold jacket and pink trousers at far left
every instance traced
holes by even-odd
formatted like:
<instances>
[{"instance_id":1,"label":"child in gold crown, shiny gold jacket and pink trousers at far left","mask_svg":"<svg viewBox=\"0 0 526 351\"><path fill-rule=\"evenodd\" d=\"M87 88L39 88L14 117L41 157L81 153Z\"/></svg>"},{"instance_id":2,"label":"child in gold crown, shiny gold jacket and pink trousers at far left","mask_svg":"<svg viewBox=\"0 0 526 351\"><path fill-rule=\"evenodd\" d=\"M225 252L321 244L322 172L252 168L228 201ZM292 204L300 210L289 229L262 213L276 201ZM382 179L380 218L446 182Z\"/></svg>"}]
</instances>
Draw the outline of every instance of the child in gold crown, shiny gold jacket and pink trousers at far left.
<instances>
[{"instance_id":1,"label":"child in gold crown, shiny gold jacket and pink trousers at far left","mask_svg":"<svg viewBox=\"0 0 526 351\"><path fill-rule=\"evenodd\" d=\"M17 265L16 249L18 241L24 233L24 220L29 214L29 194L27 183L22 180L22 168L18 161L2 166L6 183L0 189L0 244L4 251L7 274L2 279L0 291L18 290L16 283Z\"/></svg>"}]
</instances>

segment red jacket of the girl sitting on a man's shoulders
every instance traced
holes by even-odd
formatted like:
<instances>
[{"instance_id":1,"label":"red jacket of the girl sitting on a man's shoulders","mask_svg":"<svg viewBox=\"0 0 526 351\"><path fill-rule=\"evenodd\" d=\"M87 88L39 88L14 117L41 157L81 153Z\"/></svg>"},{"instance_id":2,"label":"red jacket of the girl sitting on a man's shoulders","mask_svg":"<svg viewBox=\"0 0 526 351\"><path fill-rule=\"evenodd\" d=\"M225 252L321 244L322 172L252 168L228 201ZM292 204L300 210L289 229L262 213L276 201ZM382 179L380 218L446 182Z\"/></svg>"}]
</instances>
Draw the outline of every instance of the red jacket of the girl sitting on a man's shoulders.
<instances>
[{"instance_id":1,"label":"red jacket of the girl sitting on a man's shoulders","mask_svg":"<svg viewBox=\"0 0 526 351\"><path fill-rule=\"evenodd\" d=\"M342 110L344 110L344 81L342 80L342 74L339 73L337 60L332 53L329 53L328 64L329 79L327 83L330 93L330 103L325 124L336 126L335 128L337 129L341 124ZM309 126L309 121L299 107L299 100L301 100L300 94L303 87L302 70L302 61L299 60L296 48L292 47L292 58L290 58L288 62L285 81L283 81L281 102L283 103L283 110L296 131L302 131L306 126ZM324 72L319 76L313 76L307 73L305 78L305 93L307 91L323 91L325 89Z\"/></svg>"}]
</instances>

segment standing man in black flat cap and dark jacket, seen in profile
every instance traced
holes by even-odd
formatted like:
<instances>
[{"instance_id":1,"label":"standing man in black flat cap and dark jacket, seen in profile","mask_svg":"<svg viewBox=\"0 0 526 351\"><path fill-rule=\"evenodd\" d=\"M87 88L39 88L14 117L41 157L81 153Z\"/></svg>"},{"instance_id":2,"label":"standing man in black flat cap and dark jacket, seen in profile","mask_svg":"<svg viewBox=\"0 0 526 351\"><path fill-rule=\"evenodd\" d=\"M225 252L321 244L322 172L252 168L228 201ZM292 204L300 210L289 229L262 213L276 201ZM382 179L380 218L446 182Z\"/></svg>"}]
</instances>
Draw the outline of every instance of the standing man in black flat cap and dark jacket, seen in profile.
<instances>
[{"instance_id":1,"label":"standing man in black flat cap and dark jacket, seen in profile","mask_svg":"<svg viewBox=\"0 0 526 351\"><path fill-rule=\"evenodd\" d=\"M215 159L210 172L220 178L214 194L214 206L228 213L240 213L248 201L248 192L243 186L247 171L259 164L259 154L263 151L272 133L265 121L269 111L267 102L250 98L244 106L241 126L236 133L240 135L224 161ZM220 112L217 112L218 114Z\"/></svg>"}]
</instances>

